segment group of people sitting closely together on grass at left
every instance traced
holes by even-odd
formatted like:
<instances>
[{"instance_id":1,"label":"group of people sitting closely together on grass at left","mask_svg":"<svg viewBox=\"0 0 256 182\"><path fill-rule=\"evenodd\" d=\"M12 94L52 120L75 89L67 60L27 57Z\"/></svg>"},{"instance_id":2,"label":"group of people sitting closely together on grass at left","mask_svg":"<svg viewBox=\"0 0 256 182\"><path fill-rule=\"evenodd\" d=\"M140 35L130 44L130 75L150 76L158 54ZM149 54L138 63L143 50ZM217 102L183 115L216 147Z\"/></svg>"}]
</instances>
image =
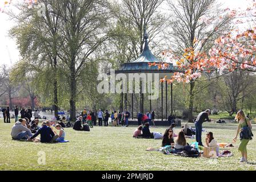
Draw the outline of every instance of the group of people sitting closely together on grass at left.
<instances>
[{"instance_id":1,"label":"group of people sitting closely together on grass at left","mask_svg":"<svg viewBox=\"0 0 256 182\"><path fill-rule=\"evenodd\" d=\"M57 124L54 126L55 129L59 131L59 134L57 134L53 126L51 126L50 121L42 122L41 127L38 126L38 123L38 119L35 119L33 123L28 123L25 118L19 119L11 129L11 137L14 140L27 140L42 143L68 142L65 140L66 134L61 125ZM41 138L37 138L39 134Z\"/></svg>"}]
</instances>

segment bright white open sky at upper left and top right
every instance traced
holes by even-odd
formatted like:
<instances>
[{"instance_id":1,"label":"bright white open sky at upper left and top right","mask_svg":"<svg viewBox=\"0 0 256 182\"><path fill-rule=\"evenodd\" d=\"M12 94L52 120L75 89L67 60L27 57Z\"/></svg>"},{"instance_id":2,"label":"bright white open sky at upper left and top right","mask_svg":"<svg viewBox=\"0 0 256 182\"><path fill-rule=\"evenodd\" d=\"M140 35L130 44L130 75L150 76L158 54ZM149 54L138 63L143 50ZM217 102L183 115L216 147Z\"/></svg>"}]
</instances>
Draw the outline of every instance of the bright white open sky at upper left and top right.
<instances>
[{"instance_id":1,"label":"bright white open sky at upper left and top right","mask_svg":"<svg viewBox=\"0 0 256 182\"><path fill-rule=\"evenodd\" d=\"M223 3L223 8L229 7L230 9L246 9L248 0L218 0ZM5 0L0 0L0 5ZM1 6L0 6L1 7ZM9 7L7 7L9 8ZM20 59L18 47L14 39L9 38L9 30L15 24L5 13L0 11L0 66L6 64L9 67L17 63Z\"/></svg>"}]
</instances>

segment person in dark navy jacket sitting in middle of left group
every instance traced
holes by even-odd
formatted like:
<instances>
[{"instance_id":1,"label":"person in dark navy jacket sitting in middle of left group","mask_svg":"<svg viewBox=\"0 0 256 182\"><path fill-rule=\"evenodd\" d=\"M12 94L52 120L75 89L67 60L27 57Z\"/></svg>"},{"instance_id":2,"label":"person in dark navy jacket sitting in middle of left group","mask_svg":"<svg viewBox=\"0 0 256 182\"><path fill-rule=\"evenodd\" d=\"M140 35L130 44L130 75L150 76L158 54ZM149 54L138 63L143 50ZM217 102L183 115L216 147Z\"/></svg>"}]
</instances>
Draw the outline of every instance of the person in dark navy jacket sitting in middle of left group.
<instances>
[{"instance_id":1,"label":"person in dark navy jacket sitting in middle of left group","mask_svg":"<svg viewBox=\"0 0 256 182\"><path fill-rule=\"evenodd\" d=\"M29 141L32 141L39 134L41 135L40 142L42 143L53 143L59 137L54 134L53 130L49 126L47 126L46 122L42 122L42 127L37 131L37 133L29 138Z\"/></svg>"}]
</instances>

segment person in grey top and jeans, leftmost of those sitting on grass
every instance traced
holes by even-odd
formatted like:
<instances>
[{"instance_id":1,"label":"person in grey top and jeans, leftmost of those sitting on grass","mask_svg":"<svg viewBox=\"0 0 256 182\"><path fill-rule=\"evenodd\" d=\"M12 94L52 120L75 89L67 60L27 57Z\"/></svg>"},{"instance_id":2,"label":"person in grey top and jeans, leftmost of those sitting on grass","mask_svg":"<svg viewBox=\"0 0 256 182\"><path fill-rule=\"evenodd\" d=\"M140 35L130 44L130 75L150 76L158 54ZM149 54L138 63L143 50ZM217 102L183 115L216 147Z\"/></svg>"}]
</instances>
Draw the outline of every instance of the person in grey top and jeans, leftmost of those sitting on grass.
<instances>
[{"instance_id":1,"label":"person in grey top and jeans, leftmost of those sitting on grass","mask_svg":"<svg viewBox=\"0 0 256 182\"><path fill-rule=\"evenodd\" d=\"M11 128L11 137L15 140L28 139L32 135L26 126L26 119L19 119Z\"/></svg>"}]
</instances>

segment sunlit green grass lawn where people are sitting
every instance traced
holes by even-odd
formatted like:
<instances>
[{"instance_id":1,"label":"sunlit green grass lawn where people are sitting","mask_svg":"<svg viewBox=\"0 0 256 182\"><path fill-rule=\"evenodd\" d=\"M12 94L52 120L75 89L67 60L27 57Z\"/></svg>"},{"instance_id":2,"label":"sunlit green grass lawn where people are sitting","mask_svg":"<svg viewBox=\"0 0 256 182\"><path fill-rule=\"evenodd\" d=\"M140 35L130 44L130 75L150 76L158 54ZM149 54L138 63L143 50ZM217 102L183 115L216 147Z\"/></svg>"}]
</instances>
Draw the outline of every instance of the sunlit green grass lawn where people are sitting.
<instances>
[{"instance_id":1,"label":"sunlit green grass lawn where people are sitting","mask_svg":"<svg viewBox=\"0 0 256 182\"><path fill-rule=\"evenodd\" d=\"M11 124L0 119L0 170L256 170L256 138L247 146L249 162L239 163L238 142L230 148L231 158L217 162L206 158L183 158L146 151L161 147L161 140L134 139L135 126L94 127L90 132L65 129L69 143L43 144L12 140ZM237 125L205 123L218 142L231 142ZM253 126L255 129L255 125ZM163 133L165 127L151 128ZM174 130L176 133L179 128ZM255 130L253 130L254 133ZM202 133L203 141L206 133ZM187 142L194 142L189 139ZM38 152L46 154L46 164L38 164Z\"/></svg>"}]
</instances>

